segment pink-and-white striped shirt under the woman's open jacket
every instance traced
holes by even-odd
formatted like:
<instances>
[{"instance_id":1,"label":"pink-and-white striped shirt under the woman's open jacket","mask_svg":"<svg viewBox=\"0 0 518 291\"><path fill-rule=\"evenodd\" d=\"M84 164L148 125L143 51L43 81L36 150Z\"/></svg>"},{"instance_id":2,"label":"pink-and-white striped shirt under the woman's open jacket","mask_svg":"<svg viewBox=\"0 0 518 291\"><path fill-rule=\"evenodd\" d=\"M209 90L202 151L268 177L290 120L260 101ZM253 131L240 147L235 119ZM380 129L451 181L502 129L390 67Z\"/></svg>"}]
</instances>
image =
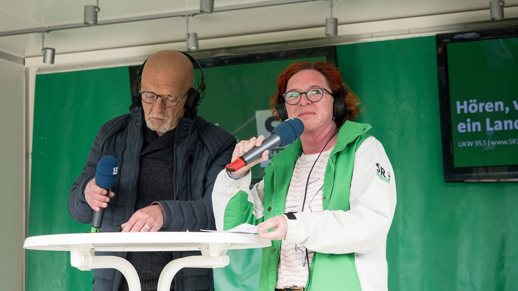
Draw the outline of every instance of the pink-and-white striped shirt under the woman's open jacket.
<instances>
[{"instance_id":1,"label":"pink-and-white striped shirt under the woman's open jacket","mask_svg":"<svg viewBox=\"0 0 518 291\"><path fill-rule=\"evenodd\" d=\"M332 149L333 148L322 152L322 154L306 155L303 153L298 158L286 195L285 212L300 212L300 209L303 207L306 184L308 185L304 211L322 212L324 174ZM319 154L320 157L318 157ZM316 164L314 164L315 161L317 161ZM312 170L311 167L313 167ZM310 172L311 177L308 183L308 174ZM306 252L308 255L307 258ZM313 252L306 250L303 245L283 240L281 244L281 258L277 271L276 288L305 287L308 279L308 264L312 257Z\"/></svg>"}]
</instances>

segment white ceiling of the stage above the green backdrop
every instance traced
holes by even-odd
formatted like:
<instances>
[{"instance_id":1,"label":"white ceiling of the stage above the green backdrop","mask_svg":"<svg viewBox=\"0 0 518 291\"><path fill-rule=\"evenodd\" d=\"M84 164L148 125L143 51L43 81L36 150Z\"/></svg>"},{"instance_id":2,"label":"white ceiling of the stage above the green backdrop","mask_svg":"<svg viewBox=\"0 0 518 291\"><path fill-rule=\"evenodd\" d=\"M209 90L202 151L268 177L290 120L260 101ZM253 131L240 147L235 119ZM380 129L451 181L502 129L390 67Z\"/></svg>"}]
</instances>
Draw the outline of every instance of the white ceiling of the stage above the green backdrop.
<instances>
[{"instance_id":1,"label":"white ceiling of the stage above the green backdrop","mask_svg":"<svg viewBox=\"0 0 518 291\"><path fill-rule=\"evenodd\" d=\"M214 2L213 13L199 14L199 0L100 0L99 25L85 26L82 24L84 5L96 5L95 0L2 0L0 57L26 59L41 56L41 31L48 27L54 30L45 34L45 46L55 48L56 55L59 55L184 43L185 17L181 15L195 14L189 18L189 32L198 34L200 50L204 50L213 39L255 37L257 42L267 43L268 34L277 32L285 32L284 36L289 36L287 38L291 40L315 37L314 33L300 33L308 30L317 31L320 37L325 37L325 18L330 17L329 1L325 0ZM509 21L508 16L516 17L518 13L515 13L518 0L505 2L506 21ZM250 8L253 6L259 7ZM411 25L419 27L426 26L423 22L430 17L452 16L455 19L443 19L449 24L466 23L488 21L489 13L489 0L333 1L333 17L338 19L340 25L339 36L361 33L359 25L365 26L368 23L414 19ZM150 20L106 24L132 18ZM437 20L429 25L437 26ZM77 28L55 29L59 28L56 26ZM380 29L378 26L376 29L389 31L397 30L398 27ZM27 31L30 33L25 33ZM204 43L207 43L205 48Z\"/></svg>"}]
</instances>

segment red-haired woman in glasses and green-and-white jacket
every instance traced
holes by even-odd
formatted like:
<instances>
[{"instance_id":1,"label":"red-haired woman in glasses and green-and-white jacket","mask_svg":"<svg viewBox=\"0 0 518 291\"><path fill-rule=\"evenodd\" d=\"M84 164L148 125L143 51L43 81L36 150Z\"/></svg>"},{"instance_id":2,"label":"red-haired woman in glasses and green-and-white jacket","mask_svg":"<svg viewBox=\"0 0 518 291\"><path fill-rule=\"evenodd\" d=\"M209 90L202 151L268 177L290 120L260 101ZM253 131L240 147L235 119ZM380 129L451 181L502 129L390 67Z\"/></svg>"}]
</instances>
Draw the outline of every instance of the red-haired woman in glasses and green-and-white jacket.
<instances>
[{"instance_id":1,"label":"red-haired woman in glasses and green-and-white jacket","mask_svg":"<svg viewBox=\"0 0 518 291\"><path fill-rule=\"evenodd\" d=\"M249 188L250 168L220 172L212 204L216 227L258 226L260 291L387 290L386 237L396 207L392 165L369 124L353 122L358 97L327 62L300 62L277 79L274 117L298 118L300 139L271 159ZM239 142L232 161L264 141Z\"/></svg>"}]
</instances>

